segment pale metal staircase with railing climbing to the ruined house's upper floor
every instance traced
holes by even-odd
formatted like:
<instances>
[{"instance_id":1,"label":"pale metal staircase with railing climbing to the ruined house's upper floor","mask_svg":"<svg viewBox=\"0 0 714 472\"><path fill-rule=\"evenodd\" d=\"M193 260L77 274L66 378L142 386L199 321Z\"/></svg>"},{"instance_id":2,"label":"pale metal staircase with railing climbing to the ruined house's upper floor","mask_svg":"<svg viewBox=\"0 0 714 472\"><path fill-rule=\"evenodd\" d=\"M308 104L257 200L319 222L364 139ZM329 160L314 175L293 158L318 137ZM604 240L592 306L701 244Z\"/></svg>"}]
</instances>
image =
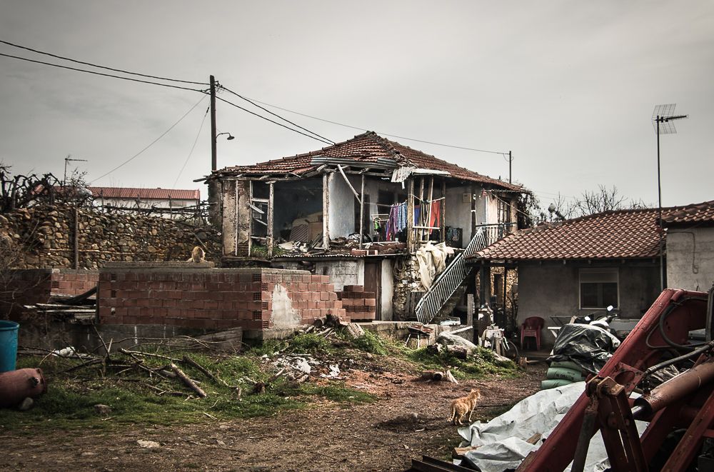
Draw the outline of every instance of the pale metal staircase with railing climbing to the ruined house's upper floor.
<instances>
[{"instance_id":1,"label":"pale metal staircase with railing climbing to the ruined house's upper floor","mask_svg":"<svg viewBox=\"0 0 714 472\"><path fill-rule=\"evenodd\" d=\"M429 323L441 307L448 301L454 292L466 280L471 268L466 266L466 258L481 251L489 244L503 237L506 227L504 225L482 225L476 230L476 235L471 238L463 252L458 253L451 263L440 273L431 284L414 309L416 318L421 323Z\"/></svg>"}]
</instances>

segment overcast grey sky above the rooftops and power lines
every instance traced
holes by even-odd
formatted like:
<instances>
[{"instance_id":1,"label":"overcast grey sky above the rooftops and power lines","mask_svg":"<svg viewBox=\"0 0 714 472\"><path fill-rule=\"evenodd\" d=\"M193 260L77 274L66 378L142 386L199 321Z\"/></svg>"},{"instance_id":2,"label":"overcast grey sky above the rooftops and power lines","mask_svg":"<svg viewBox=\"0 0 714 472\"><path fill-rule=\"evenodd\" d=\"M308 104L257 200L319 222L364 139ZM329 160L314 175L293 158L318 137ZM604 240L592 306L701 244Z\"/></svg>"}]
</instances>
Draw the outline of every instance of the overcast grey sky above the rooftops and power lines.
<instances>
[{"instance_id":1,"label":"overcast grey sky above the rooftops and power lines","mask_svg":"<svg viewBox=\"0 0 714 472\"><path fill-rule=\"evenodd\" d=\"M663 204L714 199L710 0L0 0L0 40L142 74L213 74L238 94L321 119L513 151L513 180L543 207L600 184L656 204L651 115L676 103L690 119L661 138ZM0 53L78 66L5 44ZM198 136L176 187L205 196L192 181L210 171L208 99L99 179L200 99L0 56L0 161L61 177L71 154L89 160L74 164L93 185L167 188ZM271 111L333 141L362 132ZM236 136L219 138L219 168L325 146L220 101L218 130ZM508 179L500 154L390 139Z\"/></svg>"}]
</instances>

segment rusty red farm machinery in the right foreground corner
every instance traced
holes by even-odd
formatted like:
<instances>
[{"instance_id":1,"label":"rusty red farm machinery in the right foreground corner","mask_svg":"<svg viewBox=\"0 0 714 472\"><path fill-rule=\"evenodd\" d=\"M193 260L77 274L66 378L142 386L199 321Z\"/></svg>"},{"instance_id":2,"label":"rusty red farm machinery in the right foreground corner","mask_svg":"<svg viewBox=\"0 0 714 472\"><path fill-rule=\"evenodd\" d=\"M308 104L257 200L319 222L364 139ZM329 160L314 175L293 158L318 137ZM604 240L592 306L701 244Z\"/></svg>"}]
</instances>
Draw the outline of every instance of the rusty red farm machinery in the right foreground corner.
<instances>
[{"instance_id":1,"label":"rusty red farm machinery in the right foreground corner","mask_svg":"<svg viewBox=\"0 0 714 472\"><path fill-rule=\"evenodd\" d=\"M663 291L518 471L560 472L571 461L572 471L583 471L597 431L613 471L685 471L695 465L705 439L714 438L712 293ZM707 341L690 341L690 331L702 328ZM670 366L683 372L654 386L653 375ZM637 400L630 398L635 389L643 393ZM649 421L641 437L635 419Z\"/></svg>"}]
</instances>

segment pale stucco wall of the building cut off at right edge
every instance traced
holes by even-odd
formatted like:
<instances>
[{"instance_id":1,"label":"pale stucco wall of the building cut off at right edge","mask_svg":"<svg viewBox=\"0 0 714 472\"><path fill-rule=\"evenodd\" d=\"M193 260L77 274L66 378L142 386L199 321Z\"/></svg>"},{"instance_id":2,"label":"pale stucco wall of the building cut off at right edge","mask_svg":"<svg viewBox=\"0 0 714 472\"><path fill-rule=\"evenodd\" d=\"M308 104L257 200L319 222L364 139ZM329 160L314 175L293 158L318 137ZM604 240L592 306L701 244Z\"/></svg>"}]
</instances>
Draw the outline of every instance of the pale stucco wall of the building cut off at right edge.
<instances>
[{"instance_id":1,"label":"pale stucco wall of the building cut off at right edge","mask_svg":"<svg viewBox=\"0 0 714 472\"><path fill-rule=\"evenodd\" d=\"M714 283L714 228L667 230L667 286L708 291Z\"/></svg>"}]
</instances>

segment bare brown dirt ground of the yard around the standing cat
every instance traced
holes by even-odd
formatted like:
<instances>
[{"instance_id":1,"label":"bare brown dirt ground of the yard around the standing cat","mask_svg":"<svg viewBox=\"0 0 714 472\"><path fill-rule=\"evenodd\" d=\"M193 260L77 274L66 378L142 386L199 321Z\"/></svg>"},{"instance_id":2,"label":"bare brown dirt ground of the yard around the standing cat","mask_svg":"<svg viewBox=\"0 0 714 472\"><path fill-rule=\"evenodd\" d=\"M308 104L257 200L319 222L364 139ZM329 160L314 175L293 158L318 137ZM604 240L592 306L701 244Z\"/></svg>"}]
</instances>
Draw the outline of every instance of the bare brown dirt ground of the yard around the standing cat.
<instances>
[{"instance_id":1,"label":"bare brown dirt ground of the yard around the standing cat","mask_svg":"<svg viewBox=\"0 0 714 472\"><path fill-rule=\"evenodd\" d=\"M351 371L348 385L378 396L369 404L321 403L268 418L187 426L54 431L0 438L2 471L405 471L422 455L446 459L461 441L448 404L481 388L474 417L488 420L529 396L545 366L521 378L423 383L406 372ZM155 441L146 448L138 441Z\"/></svg>"}]
</instances>

